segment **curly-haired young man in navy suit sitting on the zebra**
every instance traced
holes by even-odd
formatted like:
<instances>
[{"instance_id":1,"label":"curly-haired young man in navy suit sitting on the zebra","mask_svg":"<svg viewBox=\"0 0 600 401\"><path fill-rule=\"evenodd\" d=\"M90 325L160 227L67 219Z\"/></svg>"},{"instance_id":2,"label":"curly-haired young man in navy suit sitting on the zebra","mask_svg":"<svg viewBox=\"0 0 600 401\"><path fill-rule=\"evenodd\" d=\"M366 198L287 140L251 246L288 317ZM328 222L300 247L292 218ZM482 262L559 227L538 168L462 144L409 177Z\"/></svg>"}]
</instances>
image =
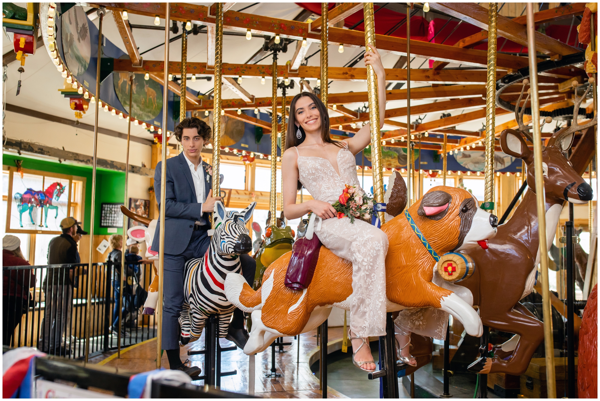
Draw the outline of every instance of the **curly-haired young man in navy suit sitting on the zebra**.
<instances>
[{"instance_id":1,"label":"curly-haired young man in navy suit sitting on the zebra","mask_svg":"<svg viewBox=\"0 0 600 401\"><path fill-rule=\"evenodd\" d=\"M184 265L190 259L204 256L211 241L210 214L220 196L212 196L212 167L202 160L200 151L211 140L211 127L191 117L175 128L175 138L183 151L167 159L166 197L164 219L164 284L163 284L163 339L170 369L182 370L190 377L200 375L200 368L186 366L179 358L179 313L184 303ZM162 162L154 174L154 193L160 208ZM158 251L160 222L152 239L152 250ZM252 285L256 262L248 254L240 256L242 275ZM244 315L233 312L227 337L244 348L248 333L244 329Z\"/></svg>"}]
</instances>

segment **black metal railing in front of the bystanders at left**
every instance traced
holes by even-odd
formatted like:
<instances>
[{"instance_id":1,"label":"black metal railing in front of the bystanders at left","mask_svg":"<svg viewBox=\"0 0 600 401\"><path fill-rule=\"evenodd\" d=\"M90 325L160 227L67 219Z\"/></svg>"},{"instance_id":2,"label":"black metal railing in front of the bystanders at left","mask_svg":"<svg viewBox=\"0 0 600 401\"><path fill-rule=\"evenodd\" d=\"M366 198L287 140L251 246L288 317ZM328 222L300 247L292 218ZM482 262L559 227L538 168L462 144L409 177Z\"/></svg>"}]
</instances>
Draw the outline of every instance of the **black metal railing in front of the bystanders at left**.
<instances>
[{"instance_id":1,"label":"black metal railing in front of the bystanders at left","mask_svg":"<svg viewBox=\"0 0 600 401\"><path fill-rule=\"evenodd\" d=\"M127 275L123 287L121 347L156 336L154 316L142 315L154 268L147 263L126 263L134 274ZM116 272L121 271L121 265L92 263L91 271L88 269L87 263L3 266L3 344L36 347L70 359L83 358L89 308L89 355L115 350L119 302Z\"/></svg>"}]
</instances>

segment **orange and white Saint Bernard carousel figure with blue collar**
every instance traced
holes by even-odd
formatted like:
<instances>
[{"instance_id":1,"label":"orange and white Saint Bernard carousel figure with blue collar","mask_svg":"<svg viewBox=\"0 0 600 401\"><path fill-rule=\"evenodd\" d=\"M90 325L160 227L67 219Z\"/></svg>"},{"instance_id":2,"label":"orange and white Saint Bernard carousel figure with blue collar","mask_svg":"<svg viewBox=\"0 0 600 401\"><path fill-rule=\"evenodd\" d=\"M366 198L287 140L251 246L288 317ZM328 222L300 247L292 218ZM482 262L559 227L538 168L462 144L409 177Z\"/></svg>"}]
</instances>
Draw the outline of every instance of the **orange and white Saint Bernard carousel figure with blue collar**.
<instances>
[{"instance_id":1,"label":"orange and white Saint Bernard carousel figure with blue collar","mask_svg":"<svg viewBox=\"0 0 600 401\"><path fill-rule=\"evenodd\" d=\"M400 174L394 174L394 181L404 184ZM394 181L388 191L394 191ZM478 241L496 234L496 217L479 209L476 199L463 189L434 187L406 214L400 214L406 206L406 196L397 199L400 198L404 205L388 205L388 212L394 210L398 215L381 227L389 238L387 310L432 306L461 321L469 335L481 336L481 320L468 291L458 286L457 291L451 291L432 282L436 260L431 252L441 255L477 247ZM304 290L296 291L284 284L290 257L291 253L287 253L266 269L263 285L257 291L245 284L241 275L227 275L227 299L252 316L245 354L265 350L277 337L313 330L326 320L332 306L349 310L352 263L320 247L313 280Z\"/></svg>"}]
</instances>

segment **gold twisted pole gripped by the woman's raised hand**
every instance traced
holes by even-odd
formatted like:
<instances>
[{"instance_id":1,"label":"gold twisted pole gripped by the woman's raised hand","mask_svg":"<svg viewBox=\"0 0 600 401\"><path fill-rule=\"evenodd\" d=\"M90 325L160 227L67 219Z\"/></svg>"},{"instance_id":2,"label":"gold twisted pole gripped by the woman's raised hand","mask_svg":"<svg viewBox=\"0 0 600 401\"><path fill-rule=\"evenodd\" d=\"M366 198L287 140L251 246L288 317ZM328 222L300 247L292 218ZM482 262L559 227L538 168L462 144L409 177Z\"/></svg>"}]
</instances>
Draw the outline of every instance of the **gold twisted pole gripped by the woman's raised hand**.
<instances>
[{"instance_id":1,"label":"gold twisted pole gripped by the woman's raised hand","mask_svg":"<svg viewBox=\"0 0 600 401\"><path fill-rule=\"evenodd\" d=\"M373 3L364 3L365 48L375 46L375 18ZM323 24L325 26L325 24ZM321 84L323 87L323 84ZM367 91L369 97L369 123L371 124L371 165L373 166L374 201L383 203L383 171L381 163L381 133L379 131L379 98L377 92L377 75L373 66L367 65ZM385 212L377 212L381 223L385 223Z\"/></svg>"}]
</instances>

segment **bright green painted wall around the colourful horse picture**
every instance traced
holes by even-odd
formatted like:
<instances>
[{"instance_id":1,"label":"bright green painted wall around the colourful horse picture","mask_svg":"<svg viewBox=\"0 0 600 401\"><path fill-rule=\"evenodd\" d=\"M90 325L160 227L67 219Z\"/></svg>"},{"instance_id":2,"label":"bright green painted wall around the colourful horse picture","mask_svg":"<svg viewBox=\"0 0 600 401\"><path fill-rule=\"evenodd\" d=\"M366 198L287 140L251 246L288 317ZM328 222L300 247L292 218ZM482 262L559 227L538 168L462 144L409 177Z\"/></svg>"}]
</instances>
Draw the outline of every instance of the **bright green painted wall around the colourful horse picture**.
<instances>
[{"instance_id":1,"label":"bright green painted wall around the colourful horse picture","mask_svg":"<svg viewBox=\"0 0 600 401\"><path fill-rule=\"evenodd\" d=\"M2 164L15 166L14 160L23 160L25 169L54 172L58 174L77 175L86 178L85 208L83 210L83 230L89 232L90 211L92 206L92 168L91 166L73 166L46 160L30 159L12 154L2 154ZM107 228L100 228L101 203L122 203L125 190L125 173L98 168L96 171L96 207L94 212L94 234L107 235ZM128 205L127 205L128 206ZM122 234L122 229L118 233Z\"/></svg>"}]
</instances>

